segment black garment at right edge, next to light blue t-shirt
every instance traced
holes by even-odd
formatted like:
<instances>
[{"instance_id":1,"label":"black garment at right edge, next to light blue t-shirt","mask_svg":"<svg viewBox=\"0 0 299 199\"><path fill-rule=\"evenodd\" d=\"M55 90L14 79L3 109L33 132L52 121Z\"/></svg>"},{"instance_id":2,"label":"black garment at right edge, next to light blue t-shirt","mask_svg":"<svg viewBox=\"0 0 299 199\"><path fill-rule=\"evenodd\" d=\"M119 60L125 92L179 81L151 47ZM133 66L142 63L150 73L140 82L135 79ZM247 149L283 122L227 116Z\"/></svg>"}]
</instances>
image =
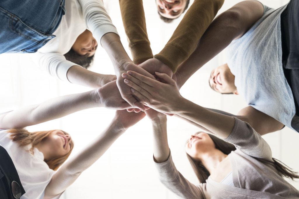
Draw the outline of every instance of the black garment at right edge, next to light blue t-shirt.
<instances>
[{"instance_id":1,"label":"black garment at right edge, next to light blue t-shirt","mask_svg":"<svg viewBox=\"0 0 299 199\"><path fill-rule=\"evenodd\" d=\"M296 115L292 127L299 129L299 1L291 0L281 13L283 72L291 87ZM298 130L297 130L298 131Z\"/></svg>"}]
</instances>

